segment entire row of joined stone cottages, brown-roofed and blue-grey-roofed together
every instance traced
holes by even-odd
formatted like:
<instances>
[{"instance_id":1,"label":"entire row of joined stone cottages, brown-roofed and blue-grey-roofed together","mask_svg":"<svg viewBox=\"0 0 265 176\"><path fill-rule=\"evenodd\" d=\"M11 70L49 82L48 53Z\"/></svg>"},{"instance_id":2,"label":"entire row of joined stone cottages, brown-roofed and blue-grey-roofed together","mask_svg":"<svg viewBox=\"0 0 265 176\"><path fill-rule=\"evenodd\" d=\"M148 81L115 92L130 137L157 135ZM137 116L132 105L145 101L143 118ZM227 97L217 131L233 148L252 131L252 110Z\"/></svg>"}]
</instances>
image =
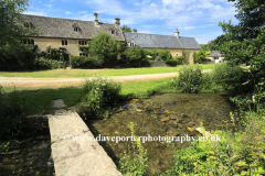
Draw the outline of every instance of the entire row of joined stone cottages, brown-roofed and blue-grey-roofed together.
<instances>
[{"instance_id":1,"label":"entire row of joined stone cottages, brown-roofed and blue-grey-roofed together","mask_svg":"<svg viewBox=\"0 0 265 176\"><path fill-rule=\"evenodd\" d=\"M24 21L24 28L33 25L40 29L40 35L36 37L25 36L24 44L38 44L36 52L44 51L47 46L65 47L67 54L64 61L67 62L70 56L88 56L91 53L83 53L80 46L88 46L98 32L108 32L116 41L125 42L127 47L140 46L142 48L170 50L172 56L181 56L183 52L189 57L189 63L193 64L193 52L199 52L201 46L193 37L179 36L179 31L174 35L124 33L120 28L120 19L116 18L114 24L98 22L98 14L94 13L94 21L82 21L72 19L39 16L21 14Z\"/></svg>"}]
</instances>

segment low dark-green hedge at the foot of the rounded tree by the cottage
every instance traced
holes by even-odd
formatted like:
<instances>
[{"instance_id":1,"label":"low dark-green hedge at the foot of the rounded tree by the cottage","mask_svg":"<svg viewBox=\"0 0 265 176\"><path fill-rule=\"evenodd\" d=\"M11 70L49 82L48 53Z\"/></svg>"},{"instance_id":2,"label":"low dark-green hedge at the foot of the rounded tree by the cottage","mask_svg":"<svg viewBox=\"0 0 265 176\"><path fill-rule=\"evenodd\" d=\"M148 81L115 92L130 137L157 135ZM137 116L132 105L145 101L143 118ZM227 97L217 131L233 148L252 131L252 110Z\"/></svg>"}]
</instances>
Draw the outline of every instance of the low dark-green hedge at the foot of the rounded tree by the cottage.
<instances>
[{"instance_id":1,"label":"low dark-green hedge at the foot of the rounded tree by the cottage","mask_svg":"<svg viewBox=\"0 0 265 176\"><path fill-rule=\"evenodd\" d=\"M97 56L85 57L85 56L74 56L71 57L72 68L100 68L103 65L103 59Z\"/></svg>"}]
</instances>

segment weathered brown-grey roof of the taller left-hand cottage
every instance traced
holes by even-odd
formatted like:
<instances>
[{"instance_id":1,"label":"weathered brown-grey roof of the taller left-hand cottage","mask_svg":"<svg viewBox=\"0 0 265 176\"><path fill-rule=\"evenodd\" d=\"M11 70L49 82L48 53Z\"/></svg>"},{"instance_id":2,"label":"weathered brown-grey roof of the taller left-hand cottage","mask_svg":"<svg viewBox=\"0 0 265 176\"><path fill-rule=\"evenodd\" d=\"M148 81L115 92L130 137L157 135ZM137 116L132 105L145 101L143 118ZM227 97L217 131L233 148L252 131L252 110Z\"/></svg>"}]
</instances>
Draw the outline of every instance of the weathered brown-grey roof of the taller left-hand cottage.
<instances>
[{"instance_id":1,"label":"weathered brown-grey roof of the taller left-hand cottage","mask_svg":"<svg viewBox=\"0 0 265 176\"><path fill-rule=\"evenodd\" d=\"M63 38L82 38L91 40L98 32L105 31L116 37L117 41L125 41L121 28L116 24L100 23L96 25L93 21L60 19L50 16L39 16L21 14L24 21L30 21L40 29L42 37L63 37ZM73 30L73 25L80 28L78 32ZM115 29L117 34L112 34L110 30Z\"/></svg>"}]
</instances>

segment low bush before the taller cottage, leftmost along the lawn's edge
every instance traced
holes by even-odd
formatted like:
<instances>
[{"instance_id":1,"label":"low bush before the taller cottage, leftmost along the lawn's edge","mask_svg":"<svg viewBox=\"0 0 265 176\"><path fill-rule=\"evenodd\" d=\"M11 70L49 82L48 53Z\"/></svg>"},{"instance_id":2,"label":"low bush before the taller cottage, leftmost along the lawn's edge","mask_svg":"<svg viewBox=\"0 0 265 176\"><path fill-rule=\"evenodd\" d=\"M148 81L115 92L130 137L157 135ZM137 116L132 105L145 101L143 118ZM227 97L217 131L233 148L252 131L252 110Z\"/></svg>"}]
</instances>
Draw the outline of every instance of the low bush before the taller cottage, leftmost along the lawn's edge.
<instances>
[{"instance_id":1,"label":"low bush before the taller cottage, leftmost along the lawn's edge","mask_svg":"<svg viewBox=\"0 0 265 176\"><path fill-rule=\"evenodd\" d=\"M57 61L53 59L44 59L38 58L35 61L35 68L36 69L57 69L61 68L61 64Z\"/></svg>"}]
</instances>

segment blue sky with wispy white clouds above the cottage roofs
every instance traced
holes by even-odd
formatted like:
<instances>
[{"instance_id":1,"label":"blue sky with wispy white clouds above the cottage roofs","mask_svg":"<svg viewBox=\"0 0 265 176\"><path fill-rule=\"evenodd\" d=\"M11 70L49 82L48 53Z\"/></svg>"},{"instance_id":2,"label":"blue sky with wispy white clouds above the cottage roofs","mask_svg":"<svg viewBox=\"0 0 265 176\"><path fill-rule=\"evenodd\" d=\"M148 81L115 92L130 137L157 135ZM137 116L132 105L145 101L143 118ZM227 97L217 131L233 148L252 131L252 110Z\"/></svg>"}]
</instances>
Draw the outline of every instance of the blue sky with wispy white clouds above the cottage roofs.
<instances>
[{"instance_id":1,"label":"blue sky with wispy white clouds above the cottage roofs","mask_svg":"<svg viewBox=\"0 0 265 176\"><path fill-rule=\"evenodd\" d=\"M206 44L223 34L220 21L232 20L235 8L227 0L30 0L26 14L115 23L136 29L138 33L194 37Z\"/></svg>"}]
</instances>

